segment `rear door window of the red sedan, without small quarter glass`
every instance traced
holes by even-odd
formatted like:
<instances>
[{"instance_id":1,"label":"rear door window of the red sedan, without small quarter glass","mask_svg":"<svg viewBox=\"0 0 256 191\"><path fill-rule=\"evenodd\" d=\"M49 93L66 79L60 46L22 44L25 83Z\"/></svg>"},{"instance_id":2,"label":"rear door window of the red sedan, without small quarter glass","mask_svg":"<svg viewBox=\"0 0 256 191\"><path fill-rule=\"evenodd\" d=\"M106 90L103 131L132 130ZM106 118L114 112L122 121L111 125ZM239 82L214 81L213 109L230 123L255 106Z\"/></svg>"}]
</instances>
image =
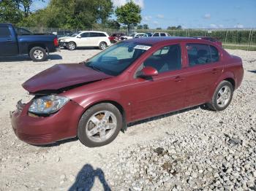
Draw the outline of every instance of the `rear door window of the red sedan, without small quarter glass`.
<instances>
[{"instance_id":1,"label":"rear door window of the red sedan, without small quarter glass","mask_svg":"<svg viewBox=\"0 0 256 191\"><path fill-rule=\"evenodd\" d=\"M187 44L189 66L211 63L211 53L208 44Z\"/></svg>"}]
</instances>

